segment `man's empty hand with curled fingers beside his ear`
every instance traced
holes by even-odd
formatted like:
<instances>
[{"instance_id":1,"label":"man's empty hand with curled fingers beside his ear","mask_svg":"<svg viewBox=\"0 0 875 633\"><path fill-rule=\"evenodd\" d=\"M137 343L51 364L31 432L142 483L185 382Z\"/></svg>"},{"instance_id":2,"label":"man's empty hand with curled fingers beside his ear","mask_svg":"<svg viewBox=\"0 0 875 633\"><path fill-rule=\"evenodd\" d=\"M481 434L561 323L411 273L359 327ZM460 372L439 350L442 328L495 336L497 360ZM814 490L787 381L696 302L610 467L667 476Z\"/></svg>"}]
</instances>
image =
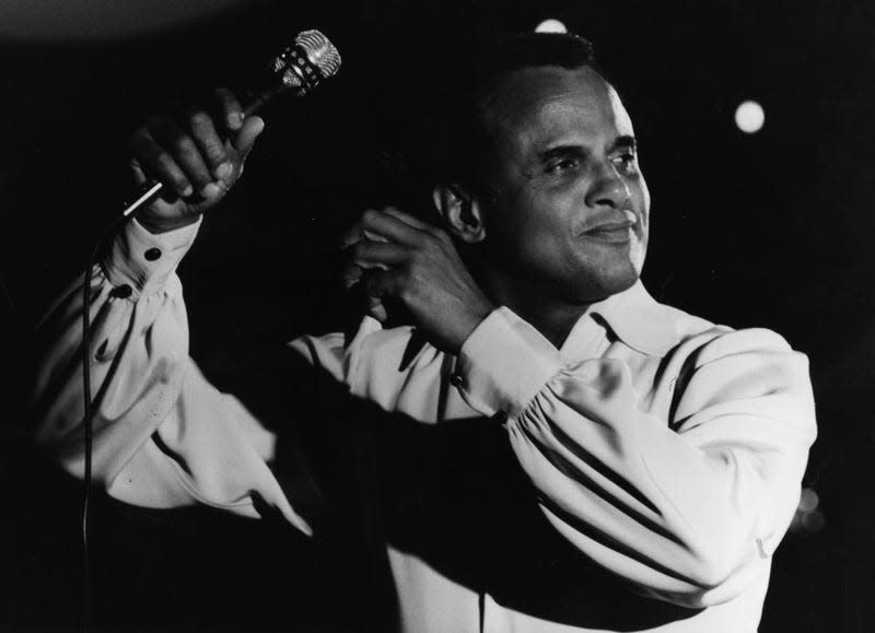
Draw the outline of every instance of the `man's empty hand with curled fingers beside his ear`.
<instances>
[{"instance_id":1,"label":"man's empty hand with curled fingers beside his ear","mask_svg":"<svg viewBox=\"0 0 875 633\"><path fill-rule=\"evenodd\" d=\"M347 232L347 288L362 283L371 316L386 320L383 300L401 301L438 348L458 353L493 305L444 231L388 207L368 210Z\"/></svg>"}]
</instances>

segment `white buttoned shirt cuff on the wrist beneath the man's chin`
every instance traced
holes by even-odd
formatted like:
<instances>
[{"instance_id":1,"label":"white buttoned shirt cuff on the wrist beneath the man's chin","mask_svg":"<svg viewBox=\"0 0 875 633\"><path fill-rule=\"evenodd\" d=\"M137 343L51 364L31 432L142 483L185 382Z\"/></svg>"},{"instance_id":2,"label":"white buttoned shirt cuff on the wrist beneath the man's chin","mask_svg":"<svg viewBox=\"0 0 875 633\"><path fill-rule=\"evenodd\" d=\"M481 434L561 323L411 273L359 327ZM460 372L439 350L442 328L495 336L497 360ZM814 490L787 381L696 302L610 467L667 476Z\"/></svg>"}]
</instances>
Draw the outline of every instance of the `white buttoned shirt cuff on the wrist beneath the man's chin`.
<instances>
[{"instance_id":1,"label":"white buttoned shirt cuff on the wrist beneath the man's chin","mask_svg":"<svg viewBox=\"0 0 875 633\"><path fill-rule=\"evenodd\" d=\"M514 417L563 366L550 341L511 309L499 307L462 345L455 383L480 413Z\"/></svg>"}]
</instances>

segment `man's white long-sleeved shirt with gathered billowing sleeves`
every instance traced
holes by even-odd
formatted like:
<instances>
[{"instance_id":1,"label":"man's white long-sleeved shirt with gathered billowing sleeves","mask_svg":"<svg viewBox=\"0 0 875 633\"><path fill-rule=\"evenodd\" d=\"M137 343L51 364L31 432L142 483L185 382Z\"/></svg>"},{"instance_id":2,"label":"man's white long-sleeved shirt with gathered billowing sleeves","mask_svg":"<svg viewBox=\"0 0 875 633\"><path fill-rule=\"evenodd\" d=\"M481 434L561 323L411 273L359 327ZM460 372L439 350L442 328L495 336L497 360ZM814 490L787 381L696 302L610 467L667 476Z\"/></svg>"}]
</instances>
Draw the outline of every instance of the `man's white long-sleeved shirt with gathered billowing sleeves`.
<instances>
[{"instance_id":1,"label":"man's white long-sleeved shirt with gathered billowing sleeves","mask_svg":"<svg viewBox=\"0 0 875 633\"><path fill-rule=\"evenodd\" d=\"M131 222L95 268L94 478L150 507L205 503L258 516L257 493L310 531L269 467L276 436L188 356L175 269L196 233L156 236ZM154 248L160 257L148 258ZM35 390L37 438L79 476L80 314L81 281L42 325ZM497 535L509 543L501 577L487 570L492 579L476 583L447 572L441 548L389 542L406 631L615 630L610 609L593 614L593 596L615 578L618 605L660 613L635 630L756 631L815 438L803 354L771 331L735 331L661 305L640 283L592 306L560 350L506 307L458 357L412 331L365 317L349 340L302 337L290 348L411 424L499 425L537 518L526 515L523 529L511 517ZM441 520L464 528L474 514ZM563 546L553 586L553 562L539 566L538 552ZM569 575L578 566L581 576Z\"/></svg>"}]
</instances>

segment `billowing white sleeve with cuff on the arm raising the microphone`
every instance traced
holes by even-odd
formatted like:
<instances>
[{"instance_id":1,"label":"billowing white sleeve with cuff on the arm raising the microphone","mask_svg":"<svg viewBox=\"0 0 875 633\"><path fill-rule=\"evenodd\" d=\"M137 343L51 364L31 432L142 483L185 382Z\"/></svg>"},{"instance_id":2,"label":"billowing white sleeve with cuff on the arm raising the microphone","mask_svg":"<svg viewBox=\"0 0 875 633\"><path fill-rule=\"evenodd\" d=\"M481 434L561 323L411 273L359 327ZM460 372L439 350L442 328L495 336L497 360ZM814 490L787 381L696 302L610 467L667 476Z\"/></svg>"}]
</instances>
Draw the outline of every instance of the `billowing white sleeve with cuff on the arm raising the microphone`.
<instances>
[{"instance_id":1,"label":"billowing white sleeve with cuff on the arm raising the microphone","mask_svg":"<svg viewBox=\"0 0 875 633\"><path fill-rule=\"evenodd\" d=\"M131 221L91 278L92 474L145 507L202 503L244 516L270 507L304 531L268 466L276 437L188 355L176 267L199 223L153 235ZM82 290L78 279L43 319L32 394L36 443L84 471Z\"/></svg>"}]
</instances>

